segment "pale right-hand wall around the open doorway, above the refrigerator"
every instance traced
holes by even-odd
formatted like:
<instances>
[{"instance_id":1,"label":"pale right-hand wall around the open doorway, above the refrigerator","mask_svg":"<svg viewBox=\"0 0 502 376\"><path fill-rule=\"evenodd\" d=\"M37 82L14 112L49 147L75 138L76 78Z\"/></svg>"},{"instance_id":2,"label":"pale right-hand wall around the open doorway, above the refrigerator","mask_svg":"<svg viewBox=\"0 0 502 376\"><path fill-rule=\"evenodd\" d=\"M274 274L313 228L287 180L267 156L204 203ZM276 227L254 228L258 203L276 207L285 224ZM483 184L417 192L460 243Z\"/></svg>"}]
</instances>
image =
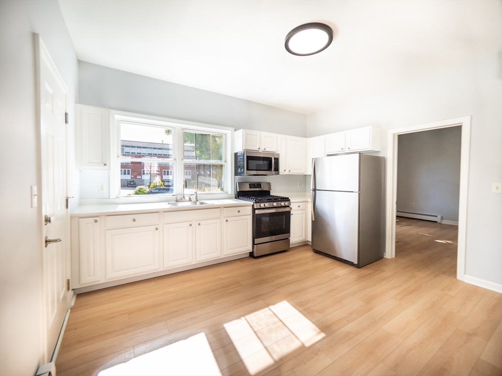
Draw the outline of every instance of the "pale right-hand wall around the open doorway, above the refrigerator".
<instances>
[{"instance_id":1,"label":"pale right-hand wall around the open doorway, above the refrigerator","mask_svg":"<svg viewBox=\"0 0 502 376\"><path fill-rule=\"evenodd\" d=\"M502 284L502 55L426 77L307 116L307 137L380 126L387 130L472 115L466 275Z\"/></svg>"}]
</instances>

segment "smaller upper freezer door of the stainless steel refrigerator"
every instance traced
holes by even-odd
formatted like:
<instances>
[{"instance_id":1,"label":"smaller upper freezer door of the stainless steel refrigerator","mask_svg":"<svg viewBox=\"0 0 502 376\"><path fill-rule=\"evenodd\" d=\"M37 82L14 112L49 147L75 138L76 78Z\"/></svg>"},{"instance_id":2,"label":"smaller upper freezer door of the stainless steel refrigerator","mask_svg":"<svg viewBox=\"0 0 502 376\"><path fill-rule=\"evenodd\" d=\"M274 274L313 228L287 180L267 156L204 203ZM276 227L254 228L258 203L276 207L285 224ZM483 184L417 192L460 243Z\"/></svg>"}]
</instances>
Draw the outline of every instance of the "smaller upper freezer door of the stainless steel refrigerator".
<instances>
[{"instance_id":1,"label":"smaller upper freezer door of the stainless steel refrigerator","mask_svg":"<svg viewBox=\"0 0 502 376\"><path fill-rule=\"evenodd\" d=\"M359 192L359 155L355 153L315 158L313 189Z\"/></svg>"}]
</instances>

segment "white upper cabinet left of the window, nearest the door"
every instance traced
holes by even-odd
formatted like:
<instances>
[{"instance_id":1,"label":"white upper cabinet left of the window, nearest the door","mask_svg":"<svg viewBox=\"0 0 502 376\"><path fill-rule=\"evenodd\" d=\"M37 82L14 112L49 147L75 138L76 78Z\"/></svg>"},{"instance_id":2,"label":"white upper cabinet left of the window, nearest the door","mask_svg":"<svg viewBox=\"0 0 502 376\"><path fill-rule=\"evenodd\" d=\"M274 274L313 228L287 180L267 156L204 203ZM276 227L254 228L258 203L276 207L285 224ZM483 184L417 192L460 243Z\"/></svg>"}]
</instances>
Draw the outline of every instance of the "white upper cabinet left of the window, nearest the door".
<instances>
[{"instance_id":1,"label":"white upper cabinet left of the window, nearest the door","mask_svg":"<svg viewBox=\"0 0 502 376\"><path fill-rule=\"evenodd\" d=\"M81 170L110 169L110 111L75 105L75 151Z\"/></svg>"}]
</instances>

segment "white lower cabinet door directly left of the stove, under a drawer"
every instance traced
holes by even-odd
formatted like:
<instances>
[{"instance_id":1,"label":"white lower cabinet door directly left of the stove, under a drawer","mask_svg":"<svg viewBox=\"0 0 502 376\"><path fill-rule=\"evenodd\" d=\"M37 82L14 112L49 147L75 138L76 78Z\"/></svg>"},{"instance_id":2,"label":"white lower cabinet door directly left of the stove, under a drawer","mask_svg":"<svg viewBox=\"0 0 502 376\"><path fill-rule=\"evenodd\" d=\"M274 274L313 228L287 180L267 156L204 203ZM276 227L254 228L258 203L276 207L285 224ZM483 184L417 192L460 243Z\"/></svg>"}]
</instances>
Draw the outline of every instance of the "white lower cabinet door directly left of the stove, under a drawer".
<instances>
[{"instance_id":1,"label":"white lower cabinet door directly left of the stove, under a drawer","mask_svg":"<svg viewBox=\"0 0 502 376\"><path fill-rule=\"evenodd\" d=\"M223 255L234 255L251 251L252 220L251 216L225 218L223 223Z\"/></svg>"}]
</instances>

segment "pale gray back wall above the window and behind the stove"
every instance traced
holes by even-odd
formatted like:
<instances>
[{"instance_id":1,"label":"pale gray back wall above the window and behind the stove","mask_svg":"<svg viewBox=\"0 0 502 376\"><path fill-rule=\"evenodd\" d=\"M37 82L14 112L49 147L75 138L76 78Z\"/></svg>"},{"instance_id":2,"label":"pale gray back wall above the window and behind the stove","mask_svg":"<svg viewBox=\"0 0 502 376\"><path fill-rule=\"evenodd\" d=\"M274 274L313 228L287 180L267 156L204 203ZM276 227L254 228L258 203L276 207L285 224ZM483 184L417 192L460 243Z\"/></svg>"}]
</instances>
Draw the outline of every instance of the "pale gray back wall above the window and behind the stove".
<instances>
[{"instance_id":1,"label":"pale gray back wall above the window and behind the stove","mask_svg":"<svg viewBox=\"0 0 502 376\"><path fill-rule=\"evenodd\" d=\"M80 104L305 137L304 114L83 61L78 72ZM81 199L109 198L97 192L98 182L109 181L108 172L81 171L80 181ZM274 181L277 192L298 192L288 176Z\"/></svg>"}]
</instances>

